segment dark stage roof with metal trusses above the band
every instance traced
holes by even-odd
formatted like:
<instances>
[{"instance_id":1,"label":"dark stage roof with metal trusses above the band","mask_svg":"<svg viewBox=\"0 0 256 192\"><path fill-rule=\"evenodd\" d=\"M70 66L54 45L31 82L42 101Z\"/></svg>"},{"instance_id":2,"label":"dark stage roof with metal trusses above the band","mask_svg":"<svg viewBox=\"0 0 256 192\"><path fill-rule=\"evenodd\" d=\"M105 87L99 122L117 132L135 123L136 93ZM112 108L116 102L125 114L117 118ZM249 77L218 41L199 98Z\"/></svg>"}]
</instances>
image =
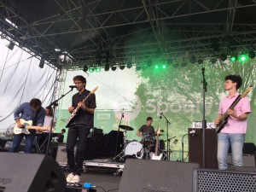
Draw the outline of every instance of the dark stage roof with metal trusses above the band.
<instances>
[{"instance_id":1,"label":"dark stage roof with metal trusses above the band","mask_svg":"<svg viewBox=\"0 0 256 192\"><path fill-rule=\"evenodd\" d=\"M61 68L60 55L66 55L70 60L63 60L64 67L73 70L84 64L102 67L153 58L211 57L255 44L256 22L236 18L237 12L254 14L253 0L122 0L114 1L116 6L112 1L55 0L58 11L28 23L0 0L0 30L54 67ZM83 40L58 46L59 37L70 41L69 35ZM231 44L233 50L230 39L236 43ZM212 50L213 43L219 44L218 52Z\"/></svg>"}]
</instances>

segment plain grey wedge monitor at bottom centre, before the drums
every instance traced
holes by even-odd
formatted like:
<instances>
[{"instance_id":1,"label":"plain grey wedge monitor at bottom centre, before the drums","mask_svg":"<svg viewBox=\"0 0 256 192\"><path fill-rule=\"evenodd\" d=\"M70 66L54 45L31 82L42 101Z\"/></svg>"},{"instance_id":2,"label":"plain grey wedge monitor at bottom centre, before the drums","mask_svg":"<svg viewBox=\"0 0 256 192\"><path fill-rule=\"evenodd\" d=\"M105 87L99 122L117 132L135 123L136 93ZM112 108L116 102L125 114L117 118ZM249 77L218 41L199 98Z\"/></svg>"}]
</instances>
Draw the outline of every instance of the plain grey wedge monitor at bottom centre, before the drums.
<instances>
[{"instance_id":1,"label":"plain grey wedge monitor at bottom centre, before the drums","mask_svg":"<svg viewBox=\"0 0 256 192\"><path fill-rule=\"evenodd\" d=\"M127 159L119 192L192 192L195 163Z\"/></svg>"}]
</instances>

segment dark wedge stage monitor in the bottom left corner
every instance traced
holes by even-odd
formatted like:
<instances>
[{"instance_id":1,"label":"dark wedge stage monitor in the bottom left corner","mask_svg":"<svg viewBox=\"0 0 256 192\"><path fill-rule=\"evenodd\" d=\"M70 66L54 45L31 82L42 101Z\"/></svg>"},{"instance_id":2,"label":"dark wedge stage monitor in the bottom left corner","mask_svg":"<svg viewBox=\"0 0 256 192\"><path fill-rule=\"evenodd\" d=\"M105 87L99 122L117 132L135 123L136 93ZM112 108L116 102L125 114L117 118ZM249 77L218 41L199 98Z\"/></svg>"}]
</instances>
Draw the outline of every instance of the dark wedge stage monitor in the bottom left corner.
<instances>
[{"instance_id":1,"label":"dark wedge stage monitor in the bottom left corner","mask_svg":"<svg viewBox=\"0 0 256 192\"><path fill-rule=\"evenodd\" d=\"M61 167L44 154L0 153L0 192L64 192Z\"/></svg>"}]
</instances>

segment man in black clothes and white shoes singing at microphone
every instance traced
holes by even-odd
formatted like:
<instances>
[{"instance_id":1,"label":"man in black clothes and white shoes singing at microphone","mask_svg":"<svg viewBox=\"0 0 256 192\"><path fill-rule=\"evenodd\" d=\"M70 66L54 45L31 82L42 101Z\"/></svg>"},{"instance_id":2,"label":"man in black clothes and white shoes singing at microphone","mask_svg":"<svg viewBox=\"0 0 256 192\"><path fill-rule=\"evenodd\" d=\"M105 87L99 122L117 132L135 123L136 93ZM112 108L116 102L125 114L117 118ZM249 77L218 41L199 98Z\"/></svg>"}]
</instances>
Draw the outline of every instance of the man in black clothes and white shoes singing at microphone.
<instances>
[{"instance_id":1,"label":"man in black clothes and white shoes singing at microphone","mask_svg":"<svg viewBox=\"0 0 256 192\"><path fill-rule=\"evenodd\" d=\"M94 111L96 108L96 96L91 94L84 102L84 98L90 94L89 90L85 90L86 79L81 76L75 76L73 83L79 91L72 97L72 107L68 108L69 113L73 113L74 109L79 107L79 111L74 116L67 132L67 165L70 173L67 175L67 183L77 184L80 182L80 175L83 171L83 163L85 156L85 145L90 128L93 125ZM77 144L77 152L74 155L74 147Z\"/></svg>"}]
</instances>

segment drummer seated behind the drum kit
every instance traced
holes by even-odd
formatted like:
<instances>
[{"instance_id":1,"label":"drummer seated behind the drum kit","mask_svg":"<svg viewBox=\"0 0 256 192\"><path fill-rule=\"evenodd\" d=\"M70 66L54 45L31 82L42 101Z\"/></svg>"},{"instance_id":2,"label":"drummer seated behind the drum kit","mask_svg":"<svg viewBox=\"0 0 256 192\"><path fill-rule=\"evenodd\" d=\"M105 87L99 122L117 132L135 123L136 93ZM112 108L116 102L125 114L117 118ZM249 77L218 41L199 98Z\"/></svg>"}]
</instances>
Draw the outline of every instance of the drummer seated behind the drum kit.
<instances>
[{"instance_id":1,"label":"drummer seated behind the drum kit","mask_svg":"<svg viewBox=\"0 0 256 192\"><path fill-rule=\"evenodd\" d=\"M154 126L152 126L153 119L152 117L148 117L146 121L146 125L142 125L141 128L136 132L138 137L142 137L143 147L149 148L150 157L154 154L154 136L156 131L154 131Z\"/></svg>"}]
</instances>

